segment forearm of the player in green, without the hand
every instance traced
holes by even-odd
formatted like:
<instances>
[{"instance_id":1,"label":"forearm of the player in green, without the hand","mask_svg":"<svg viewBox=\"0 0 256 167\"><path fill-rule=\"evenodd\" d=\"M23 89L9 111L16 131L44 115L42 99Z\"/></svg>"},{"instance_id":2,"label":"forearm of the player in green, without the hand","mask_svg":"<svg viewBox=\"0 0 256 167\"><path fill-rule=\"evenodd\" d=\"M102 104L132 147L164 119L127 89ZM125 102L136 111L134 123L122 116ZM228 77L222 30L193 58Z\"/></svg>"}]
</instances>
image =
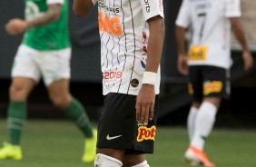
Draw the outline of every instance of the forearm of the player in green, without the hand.
<instances>
[{"instance_id":1,"label":"forearm of the player in green, without the hand","mask_svg":"<svg viewBox=\"0 0 256 167\"><path fill-rule=\"evenodd\" d=\"M61 5L49 5L46 13L27 22L27 28L47 25L57 20L61 15Z\"/></svg>"}]
</instances>

